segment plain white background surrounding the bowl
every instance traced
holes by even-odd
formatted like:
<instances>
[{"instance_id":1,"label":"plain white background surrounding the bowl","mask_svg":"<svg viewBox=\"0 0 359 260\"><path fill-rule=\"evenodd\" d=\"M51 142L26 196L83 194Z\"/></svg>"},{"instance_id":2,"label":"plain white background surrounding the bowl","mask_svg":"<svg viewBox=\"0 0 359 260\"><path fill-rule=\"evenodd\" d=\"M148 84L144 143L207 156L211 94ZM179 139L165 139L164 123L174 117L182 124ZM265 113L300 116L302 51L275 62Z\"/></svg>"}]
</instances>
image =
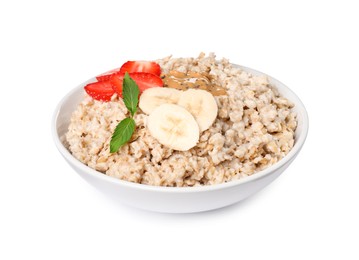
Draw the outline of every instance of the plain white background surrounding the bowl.
<instances>
[{"instance_id":1,"label":"plain white background surrounding the bowl","mask_svg":"<svg viewBox=\"0 0 359 260\"><path fill-rule=\"evenodd\" d=\"M1 1L0 259L359 259L355 2ZM50 121L68 91L129 59L200 51L306 105L307 142L280 178L170 215L115 204L66 164Z\"/></svg>"}]
</instances>

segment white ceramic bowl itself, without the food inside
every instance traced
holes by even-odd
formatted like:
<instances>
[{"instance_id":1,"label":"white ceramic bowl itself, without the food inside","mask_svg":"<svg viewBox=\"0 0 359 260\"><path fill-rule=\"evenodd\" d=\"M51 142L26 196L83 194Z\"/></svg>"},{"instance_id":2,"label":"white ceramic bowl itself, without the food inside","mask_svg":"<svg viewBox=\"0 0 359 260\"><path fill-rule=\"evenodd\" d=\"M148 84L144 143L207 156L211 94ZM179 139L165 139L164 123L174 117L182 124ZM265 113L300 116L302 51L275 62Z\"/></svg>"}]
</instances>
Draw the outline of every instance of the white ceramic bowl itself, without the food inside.
<instances>
[{"instance_id":1,"label":"white ceramic bowl itself, without the food inside","mask_svg":"<svg viewBox=\"0 0 359 260\"><path fill-rule=\"evenodd\" d=\"M264 73L238 66L253 75ZM268 76L268 75L267 75ZM95 81L90 79L68 93L58 104L52 120L55 144L72 168L100 191L125 204L158 212L190 213L217 209L239 202L261 190L276 179L295 159L308 132L308 115L300 99L283 83L268 76L279 92L291 100L297 114L298 127L293 149L279 162L249 177L202 187L156 187L122 181L97 172L78 161L63 145L62 140L70 123L72 112L83 98L83 87Z\"/></svg>"}]
</instances>

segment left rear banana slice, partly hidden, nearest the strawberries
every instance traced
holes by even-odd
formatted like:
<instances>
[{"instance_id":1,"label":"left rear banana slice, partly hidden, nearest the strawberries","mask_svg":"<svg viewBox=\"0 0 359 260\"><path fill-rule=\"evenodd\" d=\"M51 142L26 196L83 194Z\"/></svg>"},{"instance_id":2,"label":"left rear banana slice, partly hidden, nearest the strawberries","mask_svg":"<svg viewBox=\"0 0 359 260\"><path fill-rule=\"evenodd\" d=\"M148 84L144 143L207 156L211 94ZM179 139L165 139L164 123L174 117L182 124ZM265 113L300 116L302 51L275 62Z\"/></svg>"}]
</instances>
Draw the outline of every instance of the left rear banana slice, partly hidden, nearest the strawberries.
<instances>
[{"instance_id":1,"label":"left rear banana slice, partly hidden, nearest the strawberries","mask_svg":"<svg viewBox=\"0 0 359 260\"><path fill-rule=\"evenodd\" d=\"M178 102L181 92L173 88L155 87L146 89L140 98L139 107L146 114L162 104L175 104Z\"/></svg>"}]
</instances>

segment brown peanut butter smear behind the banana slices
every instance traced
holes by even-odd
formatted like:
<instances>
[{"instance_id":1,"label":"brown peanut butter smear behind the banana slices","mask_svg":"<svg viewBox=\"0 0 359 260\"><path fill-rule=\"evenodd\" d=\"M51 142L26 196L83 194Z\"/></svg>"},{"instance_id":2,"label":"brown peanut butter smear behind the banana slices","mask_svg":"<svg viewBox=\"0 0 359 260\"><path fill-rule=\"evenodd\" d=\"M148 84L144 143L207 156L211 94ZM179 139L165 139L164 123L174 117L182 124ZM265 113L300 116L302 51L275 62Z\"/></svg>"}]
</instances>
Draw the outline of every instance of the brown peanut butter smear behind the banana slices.
<instances>
[{"instance_id":1,"label":"brown peanut butter smear behind the banana slices","mask_svg":"<svg viewBox=\"0 0 359 260\"><path fill-rule=\"evenodd\" d=\"M226 95L224 88L212 84L208 73L198 73L188 71L187 73L171 70L168 74L161 75L163 84L168 88L187 90L189 88L198 88L210 92L213 96Z\"/></svg>"}]
</instances>

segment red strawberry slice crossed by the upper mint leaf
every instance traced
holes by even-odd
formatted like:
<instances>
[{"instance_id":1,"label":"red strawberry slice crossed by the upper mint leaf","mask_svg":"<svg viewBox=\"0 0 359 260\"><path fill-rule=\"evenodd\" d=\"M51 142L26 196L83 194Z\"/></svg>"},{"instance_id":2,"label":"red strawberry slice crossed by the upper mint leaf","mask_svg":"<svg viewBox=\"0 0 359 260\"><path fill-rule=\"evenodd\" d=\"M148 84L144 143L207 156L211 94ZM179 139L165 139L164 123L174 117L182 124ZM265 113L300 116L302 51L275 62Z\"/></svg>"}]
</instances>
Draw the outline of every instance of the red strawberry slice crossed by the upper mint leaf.
<instances>
[{"instance_id":1,"label":"red strawberry slice crossed by the upper mint leaf","mask_svg":"<svg viewBox=\"0 0 359 260\"><path fill-rule=\"evenodd\" d=\"M122 97L122 81L124 76L125 74L113 74L109 80L120 97ZM132 72L130 77L137 83L140 93L148 88L163 87L162 79L152 73Z\"/></svg>"}]
</instances>

